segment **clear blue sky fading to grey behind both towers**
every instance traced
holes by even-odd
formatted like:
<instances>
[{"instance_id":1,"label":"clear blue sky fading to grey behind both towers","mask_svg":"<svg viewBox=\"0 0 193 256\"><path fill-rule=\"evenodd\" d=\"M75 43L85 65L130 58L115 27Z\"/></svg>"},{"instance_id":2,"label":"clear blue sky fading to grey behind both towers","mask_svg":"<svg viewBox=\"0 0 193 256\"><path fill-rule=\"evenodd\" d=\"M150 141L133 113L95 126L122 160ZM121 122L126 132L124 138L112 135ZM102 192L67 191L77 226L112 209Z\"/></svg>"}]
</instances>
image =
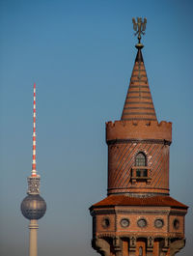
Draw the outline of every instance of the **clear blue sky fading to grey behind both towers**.
<instances>
[{"instance_id":1,"label":"clear blue sky fading to grey behind both towers","mask_svg":"<svg viewBox=\"0 0 193 256\"><path fill-rule=\"evenodd\" d=\"M106 196L105 122L119 120L146 16L143 56L158 120L173 122L171 195L190 206L192 256L192 11L187 0L0 1L0 254L26 256L20 213L32 162L37 83L37 168L47 212L39 255L94 256L88 208Z\"/></svg>"}]
</instances>

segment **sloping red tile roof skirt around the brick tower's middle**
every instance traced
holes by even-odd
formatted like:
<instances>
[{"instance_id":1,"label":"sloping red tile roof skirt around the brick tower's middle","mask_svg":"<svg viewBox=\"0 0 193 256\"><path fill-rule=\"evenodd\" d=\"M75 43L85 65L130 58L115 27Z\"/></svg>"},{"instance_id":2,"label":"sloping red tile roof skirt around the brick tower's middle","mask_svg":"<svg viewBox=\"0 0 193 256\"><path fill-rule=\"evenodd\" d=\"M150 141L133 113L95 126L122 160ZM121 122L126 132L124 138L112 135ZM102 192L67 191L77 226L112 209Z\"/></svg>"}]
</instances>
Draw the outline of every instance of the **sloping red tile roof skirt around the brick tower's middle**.
<instances>
[{"instance_id":1,"label":"sloping red tile roof skirt around the brick tower's middle","mask_svg":"<svg viewBox=\"0 0 193 256\"><path fill-rule=\"evenodd\" d=\"M170 196L153 196L146 198L129 197L127 195L110 195L100 202L92 206L92 208L102 207L113 207L113 206L161 206L161 207L172 207L172 208L183 208L188 207L179 203Z\"/></svg>"}]
</instances>

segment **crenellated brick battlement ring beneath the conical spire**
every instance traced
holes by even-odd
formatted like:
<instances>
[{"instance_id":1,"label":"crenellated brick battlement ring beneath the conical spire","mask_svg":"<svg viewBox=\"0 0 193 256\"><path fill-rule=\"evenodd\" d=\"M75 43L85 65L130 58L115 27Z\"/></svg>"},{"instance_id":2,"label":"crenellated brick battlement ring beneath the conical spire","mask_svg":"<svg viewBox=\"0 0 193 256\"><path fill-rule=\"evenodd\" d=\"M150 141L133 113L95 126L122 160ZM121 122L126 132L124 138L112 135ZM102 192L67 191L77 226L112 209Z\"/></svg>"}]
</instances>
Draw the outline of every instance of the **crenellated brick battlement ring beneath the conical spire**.
<instances>
[{"instance_id":1,"label":"crenellated brick battlement ring beneath the conical spire","mask_svg":"<svg viewBox=\"0 0 193 256\"><path fill-rule=\"evenodd\" d=\"M148 139L172 142L172 123L161 121L115 121L106 123L106 142L112 140Z\"/></svg>"}]
</instances>

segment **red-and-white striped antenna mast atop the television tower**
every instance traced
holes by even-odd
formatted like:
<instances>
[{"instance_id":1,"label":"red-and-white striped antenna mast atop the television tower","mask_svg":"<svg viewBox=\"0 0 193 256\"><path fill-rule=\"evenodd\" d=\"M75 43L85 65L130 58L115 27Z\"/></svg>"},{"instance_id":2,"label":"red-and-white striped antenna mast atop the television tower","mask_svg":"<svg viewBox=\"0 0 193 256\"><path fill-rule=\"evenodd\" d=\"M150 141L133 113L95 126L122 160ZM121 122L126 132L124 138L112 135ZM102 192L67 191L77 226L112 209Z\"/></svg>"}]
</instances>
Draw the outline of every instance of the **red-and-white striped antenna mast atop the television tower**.
<instances>
[{"instance_id":1,"label":"red-and-white striped antenna mast atop the television tower","mask_svg":"<svg viewBox=\"0 0 193 256\"><path fill-rule=\"evenodd\" d=\"M37 176L36 170L36 83L34 83L34 102L33 102L33 158L32 158L32 176Z\"/></svg>"}]
</instances>

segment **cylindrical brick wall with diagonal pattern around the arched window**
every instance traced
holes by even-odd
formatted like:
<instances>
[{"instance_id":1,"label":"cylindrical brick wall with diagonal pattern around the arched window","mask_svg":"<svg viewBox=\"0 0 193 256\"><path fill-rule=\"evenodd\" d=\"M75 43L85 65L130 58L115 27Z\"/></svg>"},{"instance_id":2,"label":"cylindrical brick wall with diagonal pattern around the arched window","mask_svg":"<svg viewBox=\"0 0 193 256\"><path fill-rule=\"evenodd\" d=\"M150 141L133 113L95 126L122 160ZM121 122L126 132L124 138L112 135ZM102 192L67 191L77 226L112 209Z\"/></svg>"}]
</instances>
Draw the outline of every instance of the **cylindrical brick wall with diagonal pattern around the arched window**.
<instances>
[{"instance_id":1,"label":"cylindrical brick wall with diagonal pattern around the arched window","mask_svg":"<svg viewBox=\"0 0 193 256\"><path fill-rule=\"evenodd\" d=\"M138 152L146 154L149 170L145 180L135 180L134 183L131 178L133 168L136 169L135 156ZM125 192L169 194L168 174L169 146L164 145L164 142L158 144L139 141L108 146L108 194Z\"/></svg>"}]
</instances>

